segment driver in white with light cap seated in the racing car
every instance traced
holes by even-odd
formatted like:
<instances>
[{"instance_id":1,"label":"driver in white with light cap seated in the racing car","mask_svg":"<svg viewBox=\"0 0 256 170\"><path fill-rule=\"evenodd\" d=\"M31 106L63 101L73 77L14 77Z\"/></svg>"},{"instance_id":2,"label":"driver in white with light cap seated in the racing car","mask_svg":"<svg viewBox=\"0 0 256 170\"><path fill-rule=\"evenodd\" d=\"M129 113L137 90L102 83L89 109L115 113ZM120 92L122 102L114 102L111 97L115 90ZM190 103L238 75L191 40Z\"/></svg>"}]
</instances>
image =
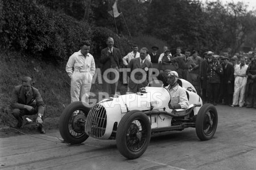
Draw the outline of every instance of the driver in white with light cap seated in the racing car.
<instances>
[{"instance_id":1,"label":"driver in white with light cap seated in the racing car","mask_svg":"<svg viewBox=\"0 0 256 170\"><path fill-rule=\"evenodd\" d=\"M176 71L170 71L167 76L166 88L171 95L171 101L169 103L170 109L187 109L189 107L188 97L184 88L180 87L177 83L179 75Z\"/></svg>"}]
</instances>

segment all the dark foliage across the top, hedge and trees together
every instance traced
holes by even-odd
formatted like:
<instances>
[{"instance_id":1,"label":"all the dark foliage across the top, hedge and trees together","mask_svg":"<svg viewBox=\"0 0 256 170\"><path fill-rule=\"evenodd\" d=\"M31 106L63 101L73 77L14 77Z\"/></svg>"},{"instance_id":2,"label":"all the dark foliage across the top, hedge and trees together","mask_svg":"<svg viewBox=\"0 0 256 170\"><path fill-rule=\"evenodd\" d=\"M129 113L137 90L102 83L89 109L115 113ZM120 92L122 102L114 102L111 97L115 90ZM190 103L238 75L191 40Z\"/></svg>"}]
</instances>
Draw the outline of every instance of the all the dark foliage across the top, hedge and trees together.
<instances>
[{"instance_id":1,"label":"all the dark foliage across the top, hedge and trees together","mask_svg":"<svg viewBox=\"0 0 256 170\"><path fill-rule=\"evenodd\" d=\"M133 39L150 35L164 40L172 50L181 46L201 53L236 53L242 45L256 47L255 11L246 10L241 2L203 5L196 0L119 0L122 15L115 18L118 35L108 13L113 2L0 0L1 46L36 57L67 60L79 49L81 40L89 39L93 44L91 53L98 59L108 36L114 37L123 55L129 52L133 43L128 41L130 32Z\"/></svg>"}]
</instances>

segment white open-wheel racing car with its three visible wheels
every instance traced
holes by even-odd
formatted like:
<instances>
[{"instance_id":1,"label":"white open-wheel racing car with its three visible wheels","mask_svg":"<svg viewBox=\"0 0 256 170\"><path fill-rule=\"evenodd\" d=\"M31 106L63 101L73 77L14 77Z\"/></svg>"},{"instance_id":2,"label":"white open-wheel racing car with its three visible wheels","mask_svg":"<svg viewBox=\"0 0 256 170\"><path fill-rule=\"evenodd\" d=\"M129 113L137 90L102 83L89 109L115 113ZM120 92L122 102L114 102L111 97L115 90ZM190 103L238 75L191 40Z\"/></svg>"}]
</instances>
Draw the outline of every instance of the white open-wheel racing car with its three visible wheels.
<instances>
[{"instance_id":1,"label":"white open-wheel racing car with its three visible wheels","mask_svg":"<svg viewBox=\"0 0 256 170\"><path fill-rule=\"evenodd\" d=\"M61 137L71 144L89 136L115 139L119 152L128 159L139 158L154 133L192 127L201 141L211 139L218 124L216 108L202 105L191 83L177 82L187 92L188 109L170 109L168 90L162 84L148 84L136 94L109 97L91 108L80 101L69 104L60 116Z\"/></svg>"}]
</instances>

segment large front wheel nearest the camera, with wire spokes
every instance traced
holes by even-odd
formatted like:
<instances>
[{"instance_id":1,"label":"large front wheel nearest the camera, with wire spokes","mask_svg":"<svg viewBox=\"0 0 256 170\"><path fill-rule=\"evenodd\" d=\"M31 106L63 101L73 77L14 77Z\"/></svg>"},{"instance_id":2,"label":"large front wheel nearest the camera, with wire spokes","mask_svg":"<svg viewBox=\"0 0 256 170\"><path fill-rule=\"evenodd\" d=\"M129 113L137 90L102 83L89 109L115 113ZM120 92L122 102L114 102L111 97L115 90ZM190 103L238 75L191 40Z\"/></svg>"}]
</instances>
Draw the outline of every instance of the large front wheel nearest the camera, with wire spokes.
<instances>
[{"instance_id":1,"label":"large front wheel nearest the camera, with wire spokes","mask_svg":"<svg viewBox=\"0 0 256 170\"><path fill-rule=\"evenodd\" d=\"M151 125L141 111L130 111L122 117L117 128L117 148L127 159L139 158L147 149L151 138Z\"/></svg>"}]
</instances>

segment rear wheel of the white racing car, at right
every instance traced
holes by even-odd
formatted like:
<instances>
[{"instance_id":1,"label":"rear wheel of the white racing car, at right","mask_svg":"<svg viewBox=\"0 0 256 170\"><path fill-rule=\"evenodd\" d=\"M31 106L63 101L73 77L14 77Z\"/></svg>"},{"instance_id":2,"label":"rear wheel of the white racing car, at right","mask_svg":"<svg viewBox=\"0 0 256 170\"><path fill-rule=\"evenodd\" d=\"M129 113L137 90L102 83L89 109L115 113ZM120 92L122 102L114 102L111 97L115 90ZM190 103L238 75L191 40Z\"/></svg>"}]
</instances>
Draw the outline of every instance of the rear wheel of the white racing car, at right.
<instances>
[{"instance_id":1,"label":"rear wheel of the white racing car, at right","mask_svg":"<svg viewBox=\"0 0 256 170\"><path fill-rule=\"evenodd\" d=\"M196 134L201 141L213 138L218 125L218 114L212 104L204 104L196 117Z\"/></svg>"}]
</instances>

